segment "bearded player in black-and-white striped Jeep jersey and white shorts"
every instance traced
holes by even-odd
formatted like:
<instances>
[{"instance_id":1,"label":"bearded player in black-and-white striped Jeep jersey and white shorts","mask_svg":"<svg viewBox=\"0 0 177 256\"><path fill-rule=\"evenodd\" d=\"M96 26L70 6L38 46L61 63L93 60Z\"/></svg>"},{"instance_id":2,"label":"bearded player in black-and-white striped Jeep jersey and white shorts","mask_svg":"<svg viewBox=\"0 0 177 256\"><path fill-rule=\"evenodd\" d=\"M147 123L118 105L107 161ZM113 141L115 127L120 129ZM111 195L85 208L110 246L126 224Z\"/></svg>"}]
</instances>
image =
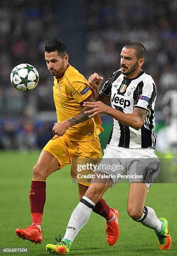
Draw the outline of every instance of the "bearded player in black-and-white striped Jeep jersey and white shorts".
<instances>
[{"instance_id":1,"label":"bearded player in black-and-white striped Jeep jersey and white shorts","mask_svg":"<svg viewBox=\"0 0 177 256\"><path fill-rule=\"evenodd\" d=\"M96 73L89 77L88 82L94 87L94 96L98 101L85 102L83 105L93 108L85 112L90 114L90 118L97 114L108 114L114 118L109 143L101 163L109 163L111 159L114 164L123 163L127 174L142 174L141 179L129 179L127 212L133 220L154 229L159 248L168 250L171 238L167 220L158 219L151 207L144 206L148 189L157 177L160 166L159 159L154 154L156 135L152 131L156 87L152 77L142 69L146 56L146 49L142 44L126 44L120 56L121 69L112 74L99 94L103 77ZM111 107L106 105L109 102ZM104 192L119 180L117 175L111 176L109 169L97 169L95 173L95 179L92 179L90 187L71 215L64 238L56 245L48 244L48 251L52 248L58 254L68 253L71 243L86 224L94 205ZM99 174L104 177L101 177L102 182ZM109 176L105 177L103 174ZM120 174L120 170L114 174Z\"/></svg>"}]
</instances>

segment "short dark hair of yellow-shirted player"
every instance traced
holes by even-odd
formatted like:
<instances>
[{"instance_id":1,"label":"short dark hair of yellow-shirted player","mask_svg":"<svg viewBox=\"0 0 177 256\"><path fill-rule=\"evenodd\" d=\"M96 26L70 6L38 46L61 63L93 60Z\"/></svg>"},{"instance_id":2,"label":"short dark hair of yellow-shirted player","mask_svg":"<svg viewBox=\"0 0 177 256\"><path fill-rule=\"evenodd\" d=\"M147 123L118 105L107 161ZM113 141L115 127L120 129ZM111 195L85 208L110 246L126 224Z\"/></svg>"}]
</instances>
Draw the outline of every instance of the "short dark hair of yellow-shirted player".
<instances>
[{"instance_id":1,"label":"short dark hair of yellow-shirted player","mask_svg":"<svg viewBox=\"0 0 177 256\"><path fill-rule=\"evenodd\" d=\"M60 56L64 56L67 54L66 46L65 44L63 44L63 42L59 38L55 38L48 41L45 45L45 51L49 53L53 51L57 51L58 55Z\"/></svg>"}]
</instances>

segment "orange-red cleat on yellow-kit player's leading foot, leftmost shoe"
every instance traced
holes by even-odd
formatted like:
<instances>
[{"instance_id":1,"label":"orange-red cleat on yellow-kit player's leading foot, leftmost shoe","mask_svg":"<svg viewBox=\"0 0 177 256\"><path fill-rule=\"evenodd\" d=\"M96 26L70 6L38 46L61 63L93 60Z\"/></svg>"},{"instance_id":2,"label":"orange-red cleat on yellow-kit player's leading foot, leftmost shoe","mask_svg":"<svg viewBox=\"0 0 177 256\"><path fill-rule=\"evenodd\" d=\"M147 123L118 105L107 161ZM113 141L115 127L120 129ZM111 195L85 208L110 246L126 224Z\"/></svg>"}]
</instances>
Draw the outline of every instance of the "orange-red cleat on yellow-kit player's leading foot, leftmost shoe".
<instances>
[{"instance_id":1,"label":"orange-red cleat on yellow-kit player's leading foot, leftmost shoe","mask_svg":"<svg viewBox=\"0 0 177 256\"><path fill-rule=\"evenodd\" d=\"M28 226L28 228L25 229L17 228L15 233L19 238L23 238L23 240L29 240L35 244L42 243L43 241L42 231L40 231L36 225Z\"/></svg>"}]
</instances>

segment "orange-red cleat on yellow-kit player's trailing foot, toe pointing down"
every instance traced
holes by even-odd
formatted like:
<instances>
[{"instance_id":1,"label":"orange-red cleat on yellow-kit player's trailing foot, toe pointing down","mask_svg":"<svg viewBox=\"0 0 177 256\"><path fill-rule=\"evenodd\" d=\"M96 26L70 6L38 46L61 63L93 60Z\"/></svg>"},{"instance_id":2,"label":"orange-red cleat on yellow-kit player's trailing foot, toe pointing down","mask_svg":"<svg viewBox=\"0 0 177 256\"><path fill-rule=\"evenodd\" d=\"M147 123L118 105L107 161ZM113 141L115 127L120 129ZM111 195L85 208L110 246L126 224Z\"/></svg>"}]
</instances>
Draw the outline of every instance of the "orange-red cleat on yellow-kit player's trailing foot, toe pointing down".
<instances>
[{"instance_id":1,"label":"orange-red cleat on yellow-kit player's trailing foot, toe pointing down","mask_svg":"<svg viewBox=\"0 0 177 256\"><path fill-rule=\"evenodd\" d=\"M117 239L119 238L119 213L118 210L110 208L116 217L111 222L106 222L106 234L107 234L107 243L109 245L114 245Z\"/></svg>"}]
</instances>

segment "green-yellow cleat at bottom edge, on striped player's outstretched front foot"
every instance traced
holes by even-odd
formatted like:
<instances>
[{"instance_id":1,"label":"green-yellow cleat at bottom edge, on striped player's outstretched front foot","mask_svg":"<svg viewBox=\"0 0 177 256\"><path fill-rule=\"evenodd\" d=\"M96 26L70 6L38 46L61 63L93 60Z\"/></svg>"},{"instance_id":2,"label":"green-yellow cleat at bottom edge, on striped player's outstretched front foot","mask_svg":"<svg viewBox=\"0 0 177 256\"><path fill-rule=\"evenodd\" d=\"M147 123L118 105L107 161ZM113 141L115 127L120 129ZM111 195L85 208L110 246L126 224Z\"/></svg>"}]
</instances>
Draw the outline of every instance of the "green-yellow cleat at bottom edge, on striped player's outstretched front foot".
<instances>
[{"instance_id":1,"label":"green-yellow cleat at bottom edge, on striped player's outstretched front foot","mask_svg":"<svg viewBox=\"0 0 177 256\"><path fill-rule=\"evenodd\" d=\"M58 241L58 238L56 238L56 241L58 243L55 243L55 244L48 243L46 245L46 251L54 254L68 254L71 246L71 241L67 239L61 240L61 235L59 235L59 241Z\"/></svg>"}]
</instances>

